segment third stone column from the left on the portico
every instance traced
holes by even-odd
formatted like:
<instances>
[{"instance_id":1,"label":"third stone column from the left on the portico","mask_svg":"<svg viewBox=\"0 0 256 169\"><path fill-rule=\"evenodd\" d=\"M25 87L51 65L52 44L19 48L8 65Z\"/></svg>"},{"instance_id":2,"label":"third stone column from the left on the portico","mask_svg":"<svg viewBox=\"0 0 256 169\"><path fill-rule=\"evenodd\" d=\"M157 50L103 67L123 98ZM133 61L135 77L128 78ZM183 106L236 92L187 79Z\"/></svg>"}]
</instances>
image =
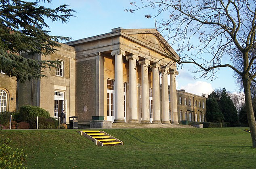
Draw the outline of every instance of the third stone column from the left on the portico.
<instances>
[{"instance_id":1,"label":"third stone column from the left on the portico","mask_svg":"<svg viewBox=\"0 0 256 169\"><path fill-rule=\"evenodd\" d=\"M149 119L149 60L138 62L141 65L141 106L142 120L141 123L150 123Z\"/></svg>"}]
</instances>

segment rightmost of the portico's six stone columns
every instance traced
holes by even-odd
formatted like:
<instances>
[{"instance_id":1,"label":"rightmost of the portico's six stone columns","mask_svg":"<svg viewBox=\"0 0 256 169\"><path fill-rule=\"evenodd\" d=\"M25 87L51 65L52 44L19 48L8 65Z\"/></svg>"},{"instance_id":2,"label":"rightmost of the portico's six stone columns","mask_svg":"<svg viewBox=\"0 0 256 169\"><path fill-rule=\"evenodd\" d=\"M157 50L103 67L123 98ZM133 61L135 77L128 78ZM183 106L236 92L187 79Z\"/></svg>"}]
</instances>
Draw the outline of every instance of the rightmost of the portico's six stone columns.
<instances>
[{"instance_id":1,"label":"rightmost of the portico's six stone columns","mask_svg":"<svg viewBox=\"0 0 256 169\"><path fill-rule=\"evenodd\" d=\"M177 94L176 94L176 75L178 71L170 71L170 95L171 95L171 123L178 124Z\"/></svg>"}]
</instances>

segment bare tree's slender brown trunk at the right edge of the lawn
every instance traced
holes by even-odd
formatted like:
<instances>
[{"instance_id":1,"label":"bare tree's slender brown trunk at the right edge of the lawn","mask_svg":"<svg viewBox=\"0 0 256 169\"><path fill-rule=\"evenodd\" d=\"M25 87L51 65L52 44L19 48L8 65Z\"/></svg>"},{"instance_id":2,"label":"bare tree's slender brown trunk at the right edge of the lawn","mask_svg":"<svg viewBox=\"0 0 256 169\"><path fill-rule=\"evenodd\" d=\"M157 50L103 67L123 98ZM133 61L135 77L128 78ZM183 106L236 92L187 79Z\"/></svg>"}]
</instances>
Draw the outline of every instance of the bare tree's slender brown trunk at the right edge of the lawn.
<instances>
[{"instance_id":1,"label":"bare tree's slender brown trunk at the right edge of the lawn","mask_svg":"<svg viewBox=\"0 0 256 169\"><path fill-rule=\"evenodd\" d=\"M254 117L254 112L252 108L252 95L251 95L251 81L248 77L242 77L243 79L243 89L244 89L244 96L246 100L246 114L247 119L250 127L250 133L252 137L252 147L256 148L256 121Z\"/></svg>"}]
</instances>

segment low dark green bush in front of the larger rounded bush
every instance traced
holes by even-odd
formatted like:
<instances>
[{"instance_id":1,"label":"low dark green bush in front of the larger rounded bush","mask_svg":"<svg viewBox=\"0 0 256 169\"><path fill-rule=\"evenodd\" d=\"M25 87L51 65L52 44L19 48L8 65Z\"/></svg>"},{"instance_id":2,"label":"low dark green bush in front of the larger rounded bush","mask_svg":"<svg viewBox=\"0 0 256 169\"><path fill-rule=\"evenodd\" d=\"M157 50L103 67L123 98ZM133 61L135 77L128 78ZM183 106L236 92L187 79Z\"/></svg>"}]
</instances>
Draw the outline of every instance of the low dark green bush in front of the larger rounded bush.
<instances>
[{"instance_id":1,"label":"low dark green bush in front of the larger rounded bush","mask_svg":"<svg viewBox=\"0 0 256 169\"><path fill-rule=\"evenodd\" d=\"M36 128L36 121L29 122L30 128ZM38 117L38 128L58 128L59 124L55 118Z\"/></svg>"}]
</instances>

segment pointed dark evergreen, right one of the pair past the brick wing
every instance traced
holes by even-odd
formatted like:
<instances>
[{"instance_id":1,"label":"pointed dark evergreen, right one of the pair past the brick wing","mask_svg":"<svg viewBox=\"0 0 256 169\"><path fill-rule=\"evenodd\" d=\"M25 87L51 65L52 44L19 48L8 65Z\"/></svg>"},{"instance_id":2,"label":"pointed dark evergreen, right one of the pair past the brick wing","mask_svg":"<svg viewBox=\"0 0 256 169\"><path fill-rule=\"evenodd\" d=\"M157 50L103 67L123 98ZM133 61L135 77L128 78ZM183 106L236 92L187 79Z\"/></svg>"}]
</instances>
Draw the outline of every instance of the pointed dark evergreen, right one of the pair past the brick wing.
<instances>
[{"instance_id":1,"label":"pointed dark evergreen, right one of the pair past the brick wing","mask_svg":"<svg viewBox=\"0 0 256 169\"><path fill-rule=\"evenodd\" d=\"M238 121L237 109L231 98L227 95L226 89L222 89L220 100L218 101L220 111L224 115L225 122L230 122L231 126Z\"/></svg>"}]
</instances>

